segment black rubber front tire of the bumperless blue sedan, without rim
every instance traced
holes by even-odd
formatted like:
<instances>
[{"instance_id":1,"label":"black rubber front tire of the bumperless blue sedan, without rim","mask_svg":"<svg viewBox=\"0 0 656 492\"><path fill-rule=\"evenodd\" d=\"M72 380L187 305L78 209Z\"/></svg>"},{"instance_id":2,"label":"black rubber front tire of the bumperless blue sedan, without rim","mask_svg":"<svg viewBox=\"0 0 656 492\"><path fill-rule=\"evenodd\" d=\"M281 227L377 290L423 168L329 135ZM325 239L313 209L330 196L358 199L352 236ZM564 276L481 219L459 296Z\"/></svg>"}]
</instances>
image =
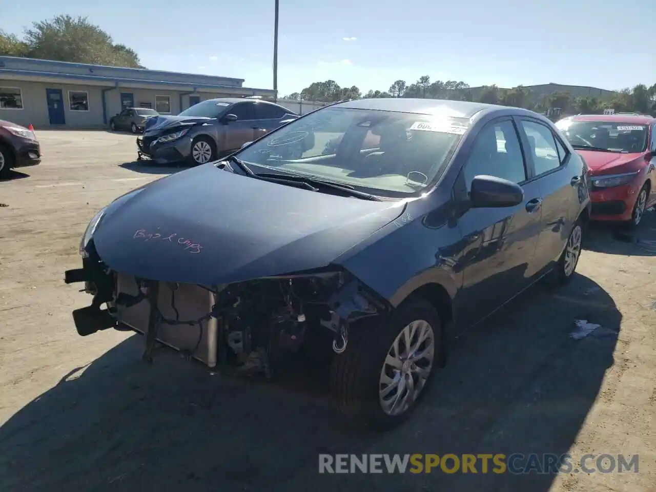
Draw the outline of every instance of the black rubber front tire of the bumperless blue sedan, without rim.
<instances>
[{"instance_id":1,"label":"black rubber front tire of the bumperless blue sedan, without rim","mask_svg":"<svg viewBox=\"0 0 656 492\"><path fill-rule=\"evenodd\" d=\"M400 414L389 415L380 401L382 370L396 337L413 321L426 321L432 329L432 365L413 403ZM333 359L330 377L331 390L342 415L375 430L387 430L404 422L426 396L434 379L441 356L441 329L437 310L421 298L406 300L385 318L367 319L350 327L346 350ZM400 393L405 394L405 387Z\"/></svg>"}]
</instances>

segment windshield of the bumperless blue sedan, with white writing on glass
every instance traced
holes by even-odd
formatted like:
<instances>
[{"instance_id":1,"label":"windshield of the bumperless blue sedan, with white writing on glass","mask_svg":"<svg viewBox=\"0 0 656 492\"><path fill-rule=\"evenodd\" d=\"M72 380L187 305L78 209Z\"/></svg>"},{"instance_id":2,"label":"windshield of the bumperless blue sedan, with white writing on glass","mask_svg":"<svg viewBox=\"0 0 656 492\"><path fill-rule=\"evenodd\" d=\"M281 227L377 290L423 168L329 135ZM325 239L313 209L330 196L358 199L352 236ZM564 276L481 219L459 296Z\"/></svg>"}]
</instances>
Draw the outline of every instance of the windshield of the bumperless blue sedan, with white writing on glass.
<instances>
[{"instance_id":1,"label":"windshield of the bumperless blue sedan, with white writing on glass","mask_svg":"<svg viewBox=\"0 0 656 492\"><path fill-rule=\"evenodd\" d=\"M468 119L443 115L329 107L270 133L237 157L255 173L304 174L407 197L438 178L468 125Z\"/></svg>"}]
</instances>

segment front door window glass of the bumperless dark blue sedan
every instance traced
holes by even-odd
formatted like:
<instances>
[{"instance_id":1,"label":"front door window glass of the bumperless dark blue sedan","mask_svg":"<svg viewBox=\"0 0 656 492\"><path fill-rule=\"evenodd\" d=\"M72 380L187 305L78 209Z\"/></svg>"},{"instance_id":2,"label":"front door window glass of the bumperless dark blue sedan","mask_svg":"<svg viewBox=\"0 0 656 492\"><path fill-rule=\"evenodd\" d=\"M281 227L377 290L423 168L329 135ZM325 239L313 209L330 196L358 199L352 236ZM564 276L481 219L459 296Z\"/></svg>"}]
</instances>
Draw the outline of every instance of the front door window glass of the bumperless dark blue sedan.
<instances>
[{"instance_id":1,"label":"front door window glass of the bumperless dark blue sedan","mask_svg":"<svg viewBox=\"0 0 656 492\"><path fill-rule=\"evenodd\" d=\"M497 176L514 183L526 179L520 140L512 121L489 123L476 136L464 165L464 184L470 190L472 180L480 174Z\"/></svg>"}]
</instances>

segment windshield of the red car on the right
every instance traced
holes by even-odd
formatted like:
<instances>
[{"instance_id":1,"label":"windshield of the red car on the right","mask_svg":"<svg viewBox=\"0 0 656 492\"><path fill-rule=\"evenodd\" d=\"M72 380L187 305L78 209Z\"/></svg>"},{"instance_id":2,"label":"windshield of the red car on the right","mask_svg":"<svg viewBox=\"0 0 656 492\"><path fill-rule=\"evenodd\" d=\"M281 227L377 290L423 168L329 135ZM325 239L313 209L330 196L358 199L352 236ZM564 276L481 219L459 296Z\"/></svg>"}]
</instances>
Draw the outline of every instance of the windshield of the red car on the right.
<instances>
[{"instance_id":1,"label":"windshield of the red car on the right","mask_svg":"<svg viewBox=\"0 0 656 492\"><path fill-rule=\"evenodd\" d=\"M619 121L576 121L563 119L556 127L574 148L592 147L607 152L629 154L647 148L647 125Z\"/></svg>"}]
</instances>

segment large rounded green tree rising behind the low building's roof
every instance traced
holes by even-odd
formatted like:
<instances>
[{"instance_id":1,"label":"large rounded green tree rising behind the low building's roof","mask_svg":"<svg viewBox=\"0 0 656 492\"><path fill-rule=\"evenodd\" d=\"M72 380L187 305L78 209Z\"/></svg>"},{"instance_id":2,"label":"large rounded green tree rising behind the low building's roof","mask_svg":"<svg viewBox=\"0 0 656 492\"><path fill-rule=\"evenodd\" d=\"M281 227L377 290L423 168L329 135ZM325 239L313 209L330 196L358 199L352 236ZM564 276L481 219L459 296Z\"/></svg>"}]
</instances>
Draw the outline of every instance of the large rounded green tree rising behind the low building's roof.
<instances>
[{"instance_id":1,"label":"large rounded green tree rising behind the low building's roof","mask_svg":"<svg viewBox=\"0 0 656 492\"><path fill-rule=\"evenodd\" d=\"M17 38L7 37L9 46L16 47ZM91 24L86 17L58 15L51 20L34 22L24 33L26 50L20 56L89 63L108 66L143 68L136 52L125 45L114 44L112 37Z\"/></svg>"}]
</instances>

